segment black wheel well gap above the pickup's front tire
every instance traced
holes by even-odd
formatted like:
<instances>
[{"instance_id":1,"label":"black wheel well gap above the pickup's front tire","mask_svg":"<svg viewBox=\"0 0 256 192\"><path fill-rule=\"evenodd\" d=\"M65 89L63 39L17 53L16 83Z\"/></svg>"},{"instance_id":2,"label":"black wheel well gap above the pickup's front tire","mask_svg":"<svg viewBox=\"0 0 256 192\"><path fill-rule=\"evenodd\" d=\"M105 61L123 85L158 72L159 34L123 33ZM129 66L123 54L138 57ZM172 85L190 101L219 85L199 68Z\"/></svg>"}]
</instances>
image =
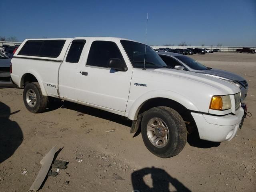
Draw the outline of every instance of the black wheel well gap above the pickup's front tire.
<instances>
[{"instance_id":1,"label":"black wheel well gap above the pickup's front tire","mask_svg":"<svg viewBox=\"0 0 256 192\"><path fill-rule=\"evenodd\" d=\"M138 110L138 114L143 114L145 111L149 110L150 108L158 107L158 106L166 106L176 110L180 114L184 122L186 123L188 132L194 132L196 128L196 123L190 113L190 110L188 110L182 104L171 99L152 98L150 100L147 100L146 102L144 102L144 104L140 106L140 109Z\"/></svg>"}]
</instances>

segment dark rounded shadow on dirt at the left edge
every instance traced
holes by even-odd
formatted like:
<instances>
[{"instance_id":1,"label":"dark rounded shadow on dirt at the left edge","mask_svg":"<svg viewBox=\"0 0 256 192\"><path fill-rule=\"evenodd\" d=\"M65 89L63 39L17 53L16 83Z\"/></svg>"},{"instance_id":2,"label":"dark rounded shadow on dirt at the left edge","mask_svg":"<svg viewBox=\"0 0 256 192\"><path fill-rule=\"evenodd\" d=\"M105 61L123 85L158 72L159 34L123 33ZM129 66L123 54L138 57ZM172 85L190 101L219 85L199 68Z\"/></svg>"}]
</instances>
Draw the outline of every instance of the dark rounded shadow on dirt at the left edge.
<instances>
[{"instance_id":1,"label":"dark rounded shadow on dirt at the left edge","mask_svg":"<svg viewBox=\"0 0 256 192\"><path fill-rule=\"evenodd\" d=\"M0 163L14 154L23 141L23 133L15 121L9 119L10 107L0 102Z\"/></svg>"}]
</instances>

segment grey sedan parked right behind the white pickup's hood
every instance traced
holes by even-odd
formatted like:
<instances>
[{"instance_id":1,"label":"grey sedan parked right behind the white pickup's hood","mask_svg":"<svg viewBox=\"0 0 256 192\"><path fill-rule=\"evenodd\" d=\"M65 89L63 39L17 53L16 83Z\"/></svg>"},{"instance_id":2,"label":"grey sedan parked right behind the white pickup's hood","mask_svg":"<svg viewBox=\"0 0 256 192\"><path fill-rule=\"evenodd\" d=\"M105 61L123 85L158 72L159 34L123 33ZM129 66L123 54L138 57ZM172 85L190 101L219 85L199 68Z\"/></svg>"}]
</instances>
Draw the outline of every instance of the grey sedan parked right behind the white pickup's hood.
<instances>
[{"instance_id":1,"label":"grey sedan parked right behind the white pickup's hood","mask_svg":"<svg viewBox=\"0 0 256 192\"><path fill-rule=\"evenodd\" d=\"M175 53L158 53L158 55L162 58L162 60L164 60L166 65L174 69L191 71L208 76L213 76L238 86L241 90L242 101L247 96L248 83L242 76L239 76L229 71L206 67L200 62L188 56Z\"/></svg>"}]
</instances>

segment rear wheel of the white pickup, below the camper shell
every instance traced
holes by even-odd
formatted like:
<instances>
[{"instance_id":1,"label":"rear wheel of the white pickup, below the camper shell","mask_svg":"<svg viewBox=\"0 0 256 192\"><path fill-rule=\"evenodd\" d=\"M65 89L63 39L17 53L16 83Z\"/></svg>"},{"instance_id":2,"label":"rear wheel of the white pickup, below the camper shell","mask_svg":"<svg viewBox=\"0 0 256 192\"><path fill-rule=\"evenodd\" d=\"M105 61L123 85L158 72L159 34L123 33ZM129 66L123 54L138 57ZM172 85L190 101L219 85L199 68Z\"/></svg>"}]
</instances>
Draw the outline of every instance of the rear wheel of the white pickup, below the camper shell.
<instances>
[{"instance_id":1,"label":"rear wheel of the white pickup, below the camper shell","mask_svg":"<svg viewBox=\"0 0 256 192\"><path fill-rule=\"evenodd\" d=\"M28 83L23 91L23 101L30 112L40 113L46 109L48 98L42 94L39 83Z\"/></svg>"}]
</instances>

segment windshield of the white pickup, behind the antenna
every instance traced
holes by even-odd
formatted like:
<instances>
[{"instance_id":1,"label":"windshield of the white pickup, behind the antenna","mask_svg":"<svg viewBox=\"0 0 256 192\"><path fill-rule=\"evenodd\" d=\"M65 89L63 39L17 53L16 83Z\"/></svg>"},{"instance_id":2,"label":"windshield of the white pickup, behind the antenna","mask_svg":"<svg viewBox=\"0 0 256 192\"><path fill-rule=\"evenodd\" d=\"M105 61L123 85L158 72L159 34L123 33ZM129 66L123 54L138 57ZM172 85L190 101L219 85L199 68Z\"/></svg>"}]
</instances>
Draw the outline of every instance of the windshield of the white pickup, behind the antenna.
<instances>
[{"instance_id":1,"label":"windshield of the white pickup, behind the antenna","mask_svg":"<svg viewBox=\"0 0 256 192\"><path fill-rule=\"evenodd\" d=\"M132 66L134 68L144 68L144 58L145 58L145 44L121 40L120 41L126 54L128 55ZM150 46L146 46L146 62L145 68L156 69L156 68L170 68L168 67L164 61L156 54L156 52L150 48Z\"/></svg>"}]
</instances>

